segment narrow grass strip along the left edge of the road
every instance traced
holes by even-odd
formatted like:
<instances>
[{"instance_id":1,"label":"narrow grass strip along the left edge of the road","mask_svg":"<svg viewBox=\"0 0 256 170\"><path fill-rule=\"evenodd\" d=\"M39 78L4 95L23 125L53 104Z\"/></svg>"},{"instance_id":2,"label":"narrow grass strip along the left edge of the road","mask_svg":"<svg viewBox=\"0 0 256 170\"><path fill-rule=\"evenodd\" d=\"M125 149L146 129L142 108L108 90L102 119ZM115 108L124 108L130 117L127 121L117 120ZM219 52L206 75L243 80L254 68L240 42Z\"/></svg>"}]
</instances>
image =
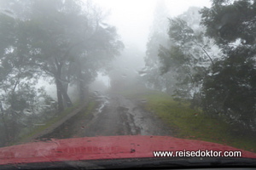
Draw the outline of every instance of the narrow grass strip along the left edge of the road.
<instances>
[{"instance_id":1,"label":"narrow grass strip along the left edge of the road","mask_svg":"<svg viewBox=\"0 0 256 170\"><path fill-rule=\"evenodd\" d=\"M88 102L88 106L83 111L80 111L79 116L88 115L90 113L90 111L92 111L92 109L94 108L95 105L96 105L96 102L93 100L90 100ZM58 115L50 118L47 122L44 122L43 126L34 127L30 133L23 134L22 136L20 136L20 139L18 139L18 141L11 143L9 145L27 142L26 141L27 139L31 138L33 135L35 135L37 133L43 132L46 128L55 124L55 122L59 122L63 117L67 116L70 112L75 111L77 108L79 108L79 106L80 106L79 101L75 102L72 107L67 108L65 111L62 111Z\"/></svg>"}]
</instances>

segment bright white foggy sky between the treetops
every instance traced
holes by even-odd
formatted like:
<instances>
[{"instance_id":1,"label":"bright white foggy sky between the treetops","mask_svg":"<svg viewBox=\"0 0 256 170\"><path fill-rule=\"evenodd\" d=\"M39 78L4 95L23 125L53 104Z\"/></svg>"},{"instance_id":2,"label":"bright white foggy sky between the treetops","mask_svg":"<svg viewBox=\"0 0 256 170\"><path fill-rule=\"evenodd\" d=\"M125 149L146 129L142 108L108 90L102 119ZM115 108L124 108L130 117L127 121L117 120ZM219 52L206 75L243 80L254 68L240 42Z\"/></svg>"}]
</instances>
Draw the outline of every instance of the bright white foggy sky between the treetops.
<instances>
[{"instance_id":1,"label":"bright white foggy sky between the treetops","mask_svg":"<svg viewBox=\"0 0 256 170\"><path fill-rule=\"evenodd\" d=\"M154 5L159 0L93 0L103 9L111 10L108 23L116 26L125 44L146 49L149 27L152 25ZM166 0L170 16L183 14L189 7L210 7L209 0ZM168 17L168 16L166 16Z\"/></svg>"}]
</instances>

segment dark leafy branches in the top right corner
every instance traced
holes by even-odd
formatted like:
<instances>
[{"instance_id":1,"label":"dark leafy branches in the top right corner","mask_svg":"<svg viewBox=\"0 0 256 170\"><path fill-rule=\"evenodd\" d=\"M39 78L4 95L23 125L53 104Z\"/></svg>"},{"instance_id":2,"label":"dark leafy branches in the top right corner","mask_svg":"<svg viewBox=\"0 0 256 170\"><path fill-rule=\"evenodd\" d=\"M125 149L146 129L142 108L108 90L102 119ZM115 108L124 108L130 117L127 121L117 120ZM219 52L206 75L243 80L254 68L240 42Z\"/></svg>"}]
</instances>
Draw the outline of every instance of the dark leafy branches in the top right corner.
<instances>
[{"instance_id":1,"label":"dark leafy branches in the top right corner","mask_svg":"<svg viewBox=\"0 0 256 170\"><path fill-rule=\"evenodd\" d=\"M240 0L224 4L215 0L212 8L203 8L201 14L207 35L219 44L235 42L238 38L243 44L255 43L255 2Z\"/></svg>"}]
</instances>

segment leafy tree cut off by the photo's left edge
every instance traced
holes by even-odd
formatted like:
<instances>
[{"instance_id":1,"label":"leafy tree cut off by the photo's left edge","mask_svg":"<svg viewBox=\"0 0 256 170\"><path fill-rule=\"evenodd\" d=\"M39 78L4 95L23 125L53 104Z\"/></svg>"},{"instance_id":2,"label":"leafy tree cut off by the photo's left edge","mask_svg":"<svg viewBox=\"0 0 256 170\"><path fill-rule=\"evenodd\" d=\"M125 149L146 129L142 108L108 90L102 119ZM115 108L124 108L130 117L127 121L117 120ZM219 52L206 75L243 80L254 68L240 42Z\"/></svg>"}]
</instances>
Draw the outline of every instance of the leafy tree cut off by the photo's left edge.
<instances>
[{"instance_id":1,"label":"leafy tree cut off by the photo's left edge","mask_svg":"<svg viewBox=\"0 0 256 170\"><path fill-rule=\"evenodd\" d=\"M24 32L26 22L13 14L0 14L0 145L15 139L20 127L26 127L26 111L38 107L38 91L34 88L41 75L31 65L31 40ZM20 119L23 117L23 119Z\"/></svg>"}]
</instances>

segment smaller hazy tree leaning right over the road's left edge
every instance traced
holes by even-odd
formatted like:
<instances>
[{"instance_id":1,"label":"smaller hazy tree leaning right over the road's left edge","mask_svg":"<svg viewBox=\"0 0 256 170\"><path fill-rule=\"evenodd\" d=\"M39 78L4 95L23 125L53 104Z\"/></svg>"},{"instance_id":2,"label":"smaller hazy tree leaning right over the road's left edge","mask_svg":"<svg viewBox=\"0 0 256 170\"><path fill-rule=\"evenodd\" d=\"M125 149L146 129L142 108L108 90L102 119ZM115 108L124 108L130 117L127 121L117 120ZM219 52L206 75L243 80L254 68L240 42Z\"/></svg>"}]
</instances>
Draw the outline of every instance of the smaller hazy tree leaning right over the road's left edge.
<instances>
[{"instance_id":1,"label":"smaller hazy tree leaning right over the road's left edge","mask_svg":"<svg viewBox=\"0 0 256 170\"><path fill-rule=\"evenodd\" d=\"M70 65L70 75L79 87L80 100L86 97L88 85L95 80L97 72L108 70L108 63L122 48L124 45L119 41L115 27L100 23L93 37L86 42L84 52Z\"/></svg>"}]
</instances>

